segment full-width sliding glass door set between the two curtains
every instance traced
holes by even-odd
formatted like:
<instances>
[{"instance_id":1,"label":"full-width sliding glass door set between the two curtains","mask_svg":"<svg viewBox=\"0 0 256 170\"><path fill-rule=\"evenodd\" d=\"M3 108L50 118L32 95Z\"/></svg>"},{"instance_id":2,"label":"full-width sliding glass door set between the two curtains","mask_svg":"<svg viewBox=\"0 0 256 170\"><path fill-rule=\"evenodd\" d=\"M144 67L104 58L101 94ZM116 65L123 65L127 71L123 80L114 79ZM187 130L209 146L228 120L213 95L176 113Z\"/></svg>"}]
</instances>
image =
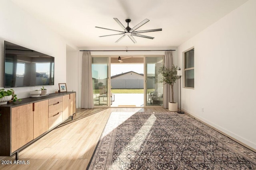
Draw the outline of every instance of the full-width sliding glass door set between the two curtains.
<instances>
[{"instance_id":1,"label":"full-width sliding glass door set between the two curtains","mask_svg":"<svg viewBox=\"0 0 256 170\"><path fill-rule=\"evenodd\" d=\"M134 60L136 57L133 57ZM122 67L119 68L119 73L112 76L111 81L113 92L111 92L110 86L110 59L111 57L92 57L92 85L93 85L93 100L96 107L148 107L148 106L163 106L163 83L160 83L162 75L159 72L159 68L164 65L163 56L149 56L144 58L144 74L135 71L125 71L125 66L131 67L132 63L118 63ZM143 61L143 60L142 60ZM130 61L133 62L133 61ZM138 62L137 62L138 63ZM134 65L132 67L135 67ZM114 74L111 73L111 74ZM119 79L121 78L121 80ZM144 86L143 86L144 78ZM118 80L116 80L118 79ZM136 79L136 81L135 81ZM141 84L141 82L142 84ZM124 84L125 82L125 84ZM127 83L126 83L127 82ZM138 89L135 86L138 82L142 85L142 88ZM126 85L121 87L120 85ZM119 88L116 86L119 85ZM127 88L132 87L132 88ZM117 90L116 90L116 89ZM131 94L122 94L119 91L133 91ZM144 91L144 95L142 94ZM112 94L113 93L113 94ZM143 100L144 96L144 102ZM113 97L113 98L112 98ZM140 98L141 97L141 98ZM139 100L141 99L141 100ZM138 102L138 100L140 102ZM126 101L126 102L125 102ZM132 103L131 102L135 102Z\"/></svg>"}]
</instances>

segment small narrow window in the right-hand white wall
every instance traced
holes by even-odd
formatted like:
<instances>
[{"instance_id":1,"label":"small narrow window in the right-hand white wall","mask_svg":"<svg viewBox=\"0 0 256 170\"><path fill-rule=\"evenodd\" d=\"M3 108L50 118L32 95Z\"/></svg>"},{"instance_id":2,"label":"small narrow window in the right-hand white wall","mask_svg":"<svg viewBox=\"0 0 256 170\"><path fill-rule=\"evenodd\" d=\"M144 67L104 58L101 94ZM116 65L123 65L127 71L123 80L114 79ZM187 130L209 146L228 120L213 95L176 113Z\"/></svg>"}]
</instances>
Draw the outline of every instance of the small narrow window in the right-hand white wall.
<instances>
[{"instance_id":1,"label":"small narrow window in the right-hand white wall","mask_svg":"<svg viewBox=\"0 0 256 170\"><path fill-rule=\"evenodd\" d=\"M194 49L184 52L184 87L194 88Z\"/></svg>"}]
</instances>

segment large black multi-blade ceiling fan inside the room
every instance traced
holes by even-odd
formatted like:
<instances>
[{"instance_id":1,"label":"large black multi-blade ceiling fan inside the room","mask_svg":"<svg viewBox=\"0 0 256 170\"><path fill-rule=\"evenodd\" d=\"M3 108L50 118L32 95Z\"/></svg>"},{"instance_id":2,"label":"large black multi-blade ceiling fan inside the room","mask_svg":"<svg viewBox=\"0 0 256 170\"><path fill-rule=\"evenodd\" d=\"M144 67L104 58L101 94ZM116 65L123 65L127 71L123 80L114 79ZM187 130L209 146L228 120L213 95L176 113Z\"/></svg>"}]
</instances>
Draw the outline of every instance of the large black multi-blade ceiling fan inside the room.
<instances>
[{"instance_id":1,"label":"large black multi-blade ceiling fan inside the room","mask_svg":"<svg viewBox=\"0 0 256 170\"><path fill-rule=\"evenodd\" d=\"M147 23L147 22L149 21L148 19L143 20L142 22L140 22L138 25L136 25L136 26L133 27L133 28L130 28L130 27L129 27L129 23L131 22L130 19L126 19L126 20L125 20L125 21L127 22L127 27L124 27L124 25L123 25L117 18L114 18L114 20L122 27L122 29L123 29L124 31L118 31L118 30L108 29L108 28L102 28L102 27L96 27L96 28L108 29L108 30L112 30L112 31L121 32L121 33L118 33L118 34L111 34L111 35L121 35L121 34L124 34L124 35L122 35L122 37L120 37L118 40L116 40L116 43L117 43L118 41L120 41L122 38L124 38L126 35L127 35L134 43L137 43L137 41L134 39L133 36L143 37L143 38L149 38L149 39L154 39L154 37L149 37L149 36L141 35L141 34L138 34L138 33L147 33L147 32L154 32L154 31L162 31L162 28L160 28L160 29L148 29L148 30L142 30L142 31L135 31L136 29L138 29L139 27L141 27L142 25L144 25L145 23ZM102 35L102 36L99 36L99 37L106 37L106 36L110 36L110 35Z\"/></svg>"}]
</instances>

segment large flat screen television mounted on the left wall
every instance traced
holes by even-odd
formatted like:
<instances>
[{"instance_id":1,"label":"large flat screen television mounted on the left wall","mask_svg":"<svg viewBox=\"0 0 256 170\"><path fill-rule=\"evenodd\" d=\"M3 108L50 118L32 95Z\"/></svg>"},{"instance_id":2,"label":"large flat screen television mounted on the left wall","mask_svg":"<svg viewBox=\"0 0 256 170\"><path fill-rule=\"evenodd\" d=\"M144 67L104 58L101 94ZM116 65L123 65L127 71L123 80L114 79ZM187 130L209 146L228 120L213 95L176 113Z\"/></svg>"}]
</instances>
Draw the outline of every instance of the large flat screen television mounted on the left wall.
<instances>
[{"instance_id":1,"label":"large flat screen television mounted on the left wall","mask_svg":"<svg viewBox=\"0 0 256 170\"><path fill-rule=\"evenodd\" d=\"M4 41L4 88L54 85L54 57Z\"/></svg>"}]
</instances>

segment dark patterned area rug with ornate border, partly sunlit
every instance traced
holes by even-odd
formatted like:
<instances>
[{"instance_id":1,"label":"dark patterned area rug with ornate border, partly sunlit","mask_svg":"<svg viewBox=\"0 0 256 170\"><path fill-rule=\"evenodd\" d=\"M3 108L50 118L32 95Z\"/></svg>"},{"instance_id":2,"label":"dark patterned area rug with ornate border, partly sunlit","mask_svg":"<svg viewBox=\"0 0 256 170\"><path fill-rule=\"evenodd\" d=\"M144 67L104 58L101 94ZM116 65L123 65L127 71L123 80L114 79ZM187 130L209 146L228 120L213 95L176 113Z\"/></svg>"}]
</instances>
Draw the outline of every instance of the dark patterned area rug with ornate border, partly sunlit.
<instances>
[{"instance_id":1,"label":"dark patterned area rug with ornate border, partly sunlit","mask_svg":"<svg viewBox=\"0 0 256 170\"><path fill-rule=\"evenodd\" d=\"M256 153L186 114L112 112L88 170L256 169Z\"/></svg>"}]
</instances>

